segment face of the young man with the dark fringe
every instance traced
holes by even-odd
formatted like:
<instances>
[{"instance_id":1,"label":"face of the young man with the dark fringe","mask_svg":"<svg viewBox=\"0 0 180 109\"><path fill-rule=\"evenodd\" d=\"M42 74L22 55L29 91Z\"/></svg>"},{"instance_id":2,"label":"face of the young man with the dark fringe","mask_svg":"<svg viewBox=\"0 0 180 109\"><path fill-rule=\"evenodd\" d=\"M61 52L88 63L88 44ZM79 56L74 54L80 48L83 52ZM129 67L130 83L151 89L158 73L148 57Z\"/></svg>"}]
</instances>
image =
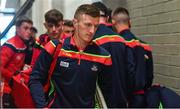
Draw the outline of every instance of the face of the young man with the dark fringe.
<instances>
[{"instance_id":1,"label":"face of the young man with the dark fringe","mask_svg":"<svg viewBox=\"0 0 180 109\"><path fill-rule=\"evenodd\" d=\"M44 23L48 35L52 38L52 39L56 39L60 37L60 34L62 32L62 21L59 21L56 25L53 23Z\"/></svg>"}]
</instances>

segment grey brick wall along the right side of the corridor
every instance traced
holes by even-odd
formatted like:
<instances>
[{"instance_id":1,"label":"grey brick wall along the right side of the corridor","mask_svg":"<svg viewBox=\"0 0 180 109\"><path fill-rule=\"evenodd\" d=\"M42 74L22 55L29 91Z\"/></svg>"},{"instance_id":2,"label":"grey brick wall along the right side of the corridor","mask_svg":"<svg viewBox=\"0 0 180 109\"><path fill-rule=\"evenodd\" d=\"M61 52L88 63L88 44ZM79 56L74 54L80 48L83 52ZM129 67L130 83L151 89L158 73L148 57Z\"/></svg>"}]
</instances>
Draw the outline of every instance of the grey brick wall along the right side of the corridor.
<instances>
[{"instance_id":1,"label":"grey brick wall along the right side of the corridor","mask_svg":"<svg viewBox=\"0 0 180 109\"><path fill-rule=\"evenodd\" d=\"M180 0L120 1L130 11L132 31L153 47L154 83L180 94Z\"/></svg>"}]
</instances>

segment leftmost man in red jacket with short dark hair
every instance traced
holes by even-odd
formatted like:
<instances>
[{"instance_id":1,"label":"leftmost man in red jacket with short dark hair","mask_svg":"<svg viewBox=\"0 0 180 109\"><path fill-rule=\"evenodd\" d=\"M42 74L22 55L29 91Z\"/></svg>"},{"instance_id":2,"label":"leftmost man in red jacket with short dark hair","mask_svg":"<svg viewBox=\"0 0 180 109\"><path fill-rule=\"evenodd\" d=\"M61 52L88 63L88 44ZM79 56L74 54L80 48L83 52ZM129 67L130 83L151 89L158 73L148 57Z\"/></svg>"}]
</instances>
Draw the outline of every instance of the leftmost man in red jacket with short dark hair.
<instances>
[{"instance_id":1,"label":"leftmost man in red jacket with short dark hair","mask_svg":"<svg viewBox=\"0 0 180 109\"><path fill-rule=\"evenodd\" d=\"M16 35L5 42L0 48L0 73L1 80L4 83L2 101L4 108L15 107L11 96L11 87L9 85L13 75L23 69L25 50L27 46L25 41L31 36L31 28L33 22L26 17L20 17L16 21Z\"/></svg>"}]
</instances>

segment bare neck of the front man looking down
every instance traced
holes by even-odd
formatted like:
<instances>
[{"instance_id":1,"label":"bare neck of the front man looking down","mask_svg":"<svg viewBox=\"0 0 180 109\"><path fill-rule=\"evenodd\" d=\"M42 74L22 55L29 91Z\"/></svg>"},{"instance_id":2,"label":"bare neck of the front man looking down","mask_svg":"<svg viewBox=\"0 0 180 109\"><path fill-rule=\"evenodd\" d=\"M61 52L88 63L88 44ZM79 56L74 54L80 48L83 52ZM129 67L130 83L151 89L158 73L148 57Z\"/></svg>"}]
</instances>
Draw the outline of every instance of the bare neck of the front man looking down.
<instances>
[{"instance_id":1,"label":"bare neck of the front man looking down","mask_svg":"<svg viewBox=\"0 0 180 109\"><path fill-rule=\"evenodd\" d=\"M81 40L79 38L79 36L76 34L73 36L73 38L74 38L75 44L79 50L84 50L86 48L86 46L88 45L87 42Z\"/></svg>"}]
</instances>

